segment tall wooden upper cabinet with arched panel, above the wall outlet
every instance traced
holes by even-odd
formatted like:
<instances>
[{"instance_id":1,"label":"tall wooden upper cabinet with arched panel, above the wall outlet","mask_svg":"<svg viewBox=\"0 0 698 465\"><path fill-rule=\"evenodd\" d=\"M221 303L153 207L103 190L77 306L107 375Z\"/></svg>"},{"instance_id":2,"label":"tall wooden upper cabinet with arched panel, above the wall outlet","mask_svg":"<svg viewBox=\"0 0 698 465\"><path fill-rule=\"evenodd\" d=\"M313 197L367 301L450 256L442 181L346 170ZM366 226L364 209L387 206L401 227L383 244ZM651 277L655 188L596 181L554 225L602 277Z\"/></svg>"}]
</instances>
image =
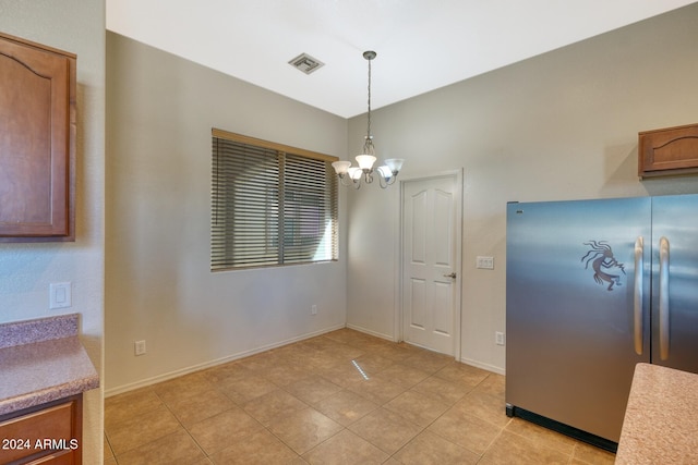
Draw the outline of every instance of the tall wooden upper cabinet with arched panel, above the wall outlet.
<instances>
[{"instance_id":1,"label":"tall wooden upper cabinet with arched panel, above the wall outlet","mask_svg":"<svg viewBox=\"0 0 698 465\"><path fill-rule=\"evenodd\" d=\"M75 68L0 34L0 242L75 240Z\"/></svg>"}]
</instances>

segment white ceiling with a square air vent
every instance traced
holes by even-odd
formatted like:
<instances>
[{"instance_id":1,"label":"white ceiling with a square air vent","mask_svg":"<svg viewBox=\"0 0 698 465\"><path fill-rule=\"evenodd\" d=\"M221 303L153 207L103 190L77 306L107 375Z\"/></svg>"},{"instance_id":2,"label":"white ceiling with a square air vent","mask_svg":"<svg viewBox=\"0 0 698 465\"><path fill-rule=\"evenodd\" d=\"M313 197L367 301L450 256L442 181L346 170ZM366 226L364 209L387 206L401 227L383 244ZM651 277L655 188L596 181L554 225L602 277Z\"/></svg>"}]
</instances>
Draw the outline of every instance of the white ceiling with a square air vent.
<instances>
[{"instance_id":1,"label":"white ceiling with a square air vent","mask_svg":"<svg viewBox=\"0 0 698 465\"><path fill-rule=\"evenodd\" d=\"M695 0L107 0L107 28L344 118ZM288 61L325 65L306 75Z\"/></svg>"}]
</instances>

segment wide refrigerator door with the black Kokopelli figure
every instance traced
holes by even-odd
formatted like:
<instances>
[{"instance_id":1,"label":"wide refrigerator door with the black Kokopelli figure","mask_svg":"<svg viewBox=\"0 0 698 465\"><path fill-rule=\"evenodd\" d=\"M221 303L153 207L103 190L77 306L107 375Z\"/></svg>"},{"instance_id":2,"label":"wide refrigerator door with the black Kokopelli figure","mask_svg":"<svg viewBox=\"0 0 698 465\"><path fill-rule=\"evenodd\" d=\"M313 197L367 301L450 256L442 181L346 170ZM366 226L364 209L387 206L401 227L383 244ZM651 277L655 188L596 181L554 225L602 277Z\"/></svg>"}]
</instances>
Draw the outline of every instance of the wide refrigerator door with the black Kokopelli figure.
<instances>
[{"instance_id":1,"label":"wide refrigerator door with the black Kokopelli figure","mask_svg":"<svg viewBox=\"0 0 698 465\"><path fill-rule=\"evenodd\" d=\"M507 206L507 404L618 441L649 362L650 213L649 198Z\"/></svg>"}]
</instances>

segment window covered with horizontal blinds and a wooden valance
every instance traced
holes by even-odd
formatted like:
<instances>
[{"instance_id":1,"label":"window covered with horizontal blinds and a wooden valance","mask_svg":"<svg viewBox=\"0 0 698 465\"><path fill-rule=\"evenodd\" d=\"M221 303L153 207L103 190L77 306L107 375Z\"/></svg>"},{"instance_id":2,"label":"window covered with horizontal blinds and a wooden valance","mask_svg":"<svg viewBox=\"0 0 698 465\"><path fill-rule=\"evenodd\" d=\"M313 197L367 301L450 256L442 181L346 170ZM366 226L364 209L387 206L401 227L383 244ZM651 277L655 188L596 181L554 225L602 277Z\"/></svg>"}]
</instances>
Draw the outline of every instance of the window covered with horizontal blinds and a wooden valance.
<instances>
[{"instance_id":1,"label":"window covered with horizontal blinds and a wooden valance","mask_svg":"<svg viewBox=\"0 0 698 465\"><path fill-rule=\"evenodd\" d=\"M212 271L336 260L337 158L212 134Z\"/></svg>"}]
</instances>

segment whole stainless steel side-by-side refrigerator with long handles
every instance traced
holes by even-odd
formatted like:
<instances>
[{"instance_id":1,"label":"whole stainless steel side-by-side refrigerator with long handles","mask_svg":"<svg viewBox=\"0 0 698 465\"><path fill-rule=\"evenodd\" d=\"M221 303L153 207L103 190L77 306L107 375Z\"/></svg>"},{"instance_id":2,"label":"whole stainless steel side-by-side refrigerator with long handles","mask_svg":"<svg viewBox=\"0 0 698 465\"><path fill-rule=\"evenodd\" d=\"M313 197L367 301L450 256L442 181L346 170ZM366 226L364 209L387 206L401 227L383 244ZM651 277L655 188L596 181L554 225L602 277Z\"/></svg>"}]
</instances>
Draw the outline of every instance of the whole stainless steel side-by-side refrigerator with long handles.
<instances>
[{"instance_id":1,"label":"whole stainless steel side-by-side refrigerator with long handles","mask_svg":"<svg viewBox=\"0 0 698 465\"><path fill-rule=\"evenodd\" d=\"M508 204L506 333L507 415L614 451L636 364L698 372L698 195Z\"/></svg>"}]
</instances>

